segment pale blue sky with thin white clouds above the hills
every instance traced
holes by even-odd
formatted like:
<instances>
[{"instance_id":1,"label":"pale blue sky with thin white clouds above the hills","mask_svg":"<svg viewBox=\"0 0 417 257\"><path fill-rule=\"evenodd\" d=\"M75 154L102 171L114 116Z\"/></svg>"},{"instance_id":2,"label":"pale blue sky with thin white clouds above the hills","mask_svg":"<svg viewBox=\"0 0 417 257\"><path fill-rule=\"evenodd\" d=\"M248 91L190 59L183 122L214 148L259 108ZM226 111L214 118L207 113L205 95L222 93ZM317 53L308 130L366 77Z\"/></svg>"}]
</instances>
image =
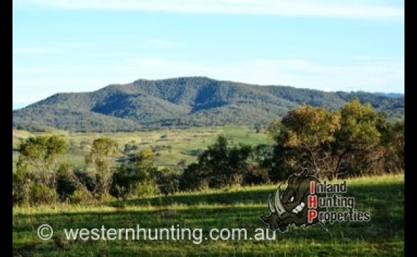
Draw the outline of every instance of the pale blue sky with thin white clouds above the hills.
<instances>
[{"instance_id":1,"label":"pale blue sky with thin white clouds above the hills","mask_svg":"<svg viewBox=\"0 0 417 257\"><path fill-rule=\"evenodd\" d=\"M404 1L13 0L13 110L179 76L404 93Z\"/></svg>"}]
</instances>

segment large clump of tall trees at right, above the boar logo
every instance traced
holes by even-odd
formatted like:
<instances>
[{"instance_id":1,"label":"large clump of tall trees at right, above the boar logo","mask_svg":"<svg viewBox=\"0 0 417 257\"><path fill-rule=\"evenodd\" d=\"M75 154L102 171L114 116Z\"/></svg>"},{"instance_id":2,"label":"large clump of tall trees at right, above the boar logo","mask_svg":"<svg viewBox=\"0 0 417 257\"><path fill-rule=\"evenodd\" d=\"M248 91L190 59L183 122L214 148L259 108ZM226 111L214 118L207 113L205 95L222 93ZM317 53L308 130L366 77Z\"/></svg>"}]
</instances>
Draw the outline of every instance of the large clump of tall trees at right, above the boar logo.
<instances>
[{"instance_id":1,"label":"large clump of tall trees at right, above the boar logo","mask_svg":"<svg viewBox=\"0 0 417 257\"><path fill-rule=\"evenodd\" d=\"M386 170L387 160L395 159L404 145L402 126L390 125L384 113L359 99L338 111L300 106L269 131L276 142L271 169L284 175L300 167L327 179L376 174Z\"/></svg>"}]
</instances>

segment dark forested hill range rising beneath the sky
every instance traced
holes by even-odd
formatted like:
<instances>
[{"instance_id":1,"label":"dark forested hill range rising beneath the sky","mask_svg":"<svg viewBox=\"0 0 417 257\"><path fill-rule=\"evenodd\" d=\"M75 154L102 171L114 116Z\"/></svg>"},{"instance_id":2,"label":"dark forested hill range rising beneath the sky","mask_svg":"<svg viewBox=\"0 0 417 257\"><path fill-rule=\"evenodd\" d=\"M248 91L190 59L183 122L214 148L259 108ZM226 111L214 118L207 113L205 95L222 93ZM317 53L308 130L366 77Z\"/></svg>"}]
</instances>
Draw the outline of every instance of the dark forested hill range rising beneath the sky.
<instances>
[{"instance_id":1,"label":"dark forested hill range rising beneath the sky","mask_svg":"<svg viewBox=\"0 0 417 257\"><path fill-rule=\"evenodd\" d=\"M268 124L301 103L336 109L359 97L389 117L404 115L404 97L250 85L206 77L143 80L85 93L54 94L13 110L13 128L133 131L162 126Z\"/></svg>"}]
</instances>

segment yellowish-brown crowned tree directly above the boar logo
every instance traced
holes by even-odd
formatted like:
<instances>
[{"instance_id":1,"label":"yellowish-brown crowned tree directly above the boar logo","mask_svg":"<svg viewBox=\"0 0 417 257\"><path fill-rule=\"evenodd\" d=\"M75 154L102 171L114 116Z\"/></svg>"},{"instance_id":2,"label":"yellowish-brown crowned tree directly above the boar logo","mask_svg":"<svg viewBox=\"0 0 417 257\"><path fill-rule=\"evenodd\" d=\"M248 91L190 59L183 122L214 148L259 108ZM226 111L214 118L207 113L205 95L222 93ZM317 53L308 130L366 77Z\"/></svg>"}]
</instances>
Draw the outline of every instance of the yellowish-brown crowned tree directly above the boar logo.
<instances>
[{"instance_id":1,"label":"yellowish-brown crowned tree directly above the boar logo","mask_svg":"<svg viewBox=\"0 0 417 257\"><path fill-rule=\"evenodd\" d=\"M307 105L291 110L281 122L275 121L268 128L277 142L274 154L280 163L275 169L281 171L283 166L286 169L302 166L319 175L331 158L329 145L336 140L334 135L340 127L338 112Z\"/></svg>"}]
</instances>

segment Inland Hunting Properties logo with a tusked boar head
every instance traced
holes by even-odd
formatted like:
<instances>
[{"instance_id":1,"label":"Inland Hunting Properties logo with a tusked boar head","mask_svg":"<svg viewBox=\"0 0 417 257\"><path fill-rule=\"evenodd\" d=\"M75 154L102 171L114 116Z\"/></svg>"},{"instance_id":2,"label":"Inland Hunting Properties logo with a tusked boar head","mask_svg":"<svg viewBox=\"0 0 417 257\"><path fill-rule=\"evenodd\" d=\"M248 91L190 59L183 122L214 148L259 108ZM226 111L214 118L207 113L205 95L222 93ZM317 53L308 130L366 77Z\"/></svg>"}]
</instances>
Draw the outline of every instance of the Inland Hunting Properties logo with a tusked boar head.
<instances>
[{"instance_id":1,"label":"Inland Hunting Properties logo with a tusked boar head","mask_svg":"<svg viewBox=\"0 0 417 257\"><path fill-rule=\"evenodd\" d=\"M342 183L320 182L309 176L307 169L292 174L284 190L281 185L268 197L270 215L261 220L272 231L288 231L288 227L308 227L314 224L334 222L369 222L370 213L354 208L354 197L347 197L347 181Z\"/></svg>"}]
</instances>

